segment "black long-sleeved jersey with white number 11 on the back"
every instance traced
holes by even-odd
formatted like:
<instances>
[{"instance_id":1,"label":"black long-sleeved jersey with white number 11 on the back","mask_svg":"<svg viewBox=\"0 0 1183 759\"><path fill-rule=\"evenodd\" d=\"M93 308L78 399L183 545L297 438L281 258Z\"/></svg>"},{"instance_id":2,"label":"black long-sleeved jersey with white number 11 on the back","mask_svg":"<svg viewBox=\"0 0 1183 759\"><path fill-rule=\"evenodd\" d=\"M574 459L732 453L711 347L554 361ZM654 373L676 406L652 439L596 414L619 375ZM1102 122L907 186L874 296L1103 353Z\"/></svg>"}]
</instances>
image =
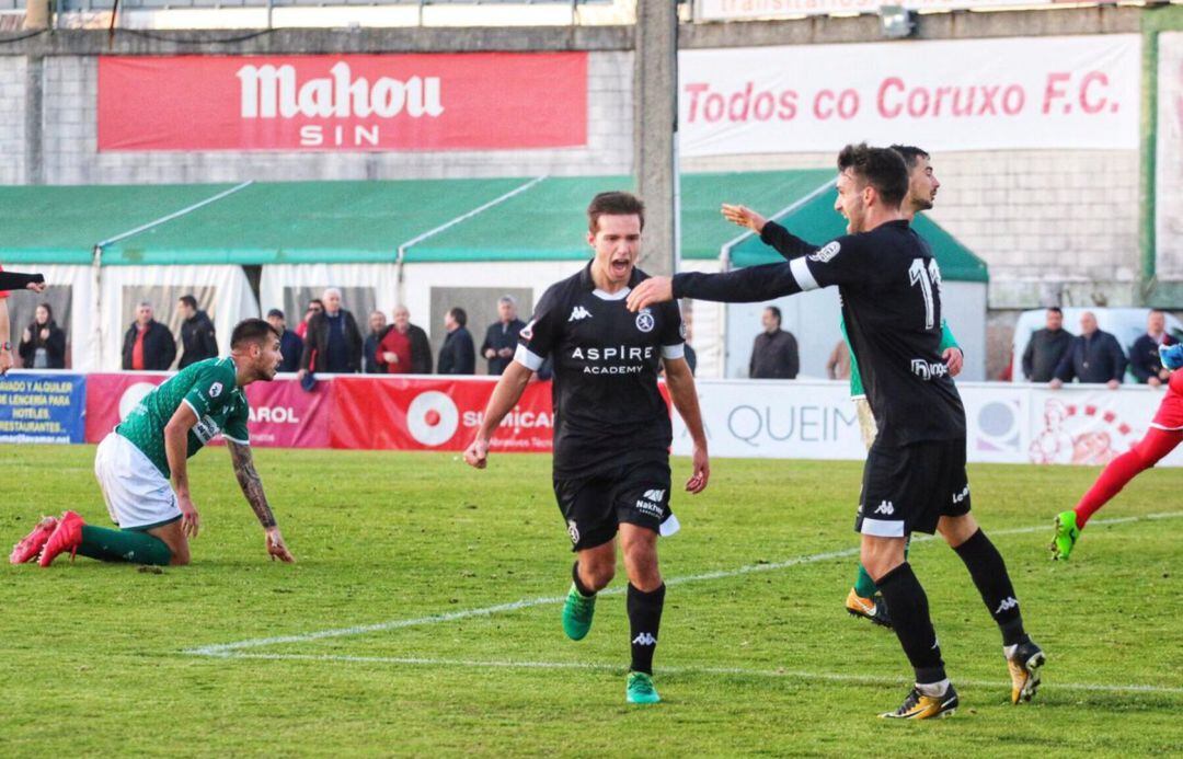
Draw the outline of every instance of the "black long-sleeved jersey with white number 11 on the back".
<instances>
[{"instance_id":1,"label":"black long-sleeved jersey with white number 11 on the back","mask_svg":"<svg viewBox=\"0 0 1183 759\"><path fill-rule=\"evenodd\" d=\"M940 356L940 270L907 221L838 238L783 264L677 274L675 298L752 303L836 285L851 349L885 445L965 436Z\"/></svg>"}]
</instances>

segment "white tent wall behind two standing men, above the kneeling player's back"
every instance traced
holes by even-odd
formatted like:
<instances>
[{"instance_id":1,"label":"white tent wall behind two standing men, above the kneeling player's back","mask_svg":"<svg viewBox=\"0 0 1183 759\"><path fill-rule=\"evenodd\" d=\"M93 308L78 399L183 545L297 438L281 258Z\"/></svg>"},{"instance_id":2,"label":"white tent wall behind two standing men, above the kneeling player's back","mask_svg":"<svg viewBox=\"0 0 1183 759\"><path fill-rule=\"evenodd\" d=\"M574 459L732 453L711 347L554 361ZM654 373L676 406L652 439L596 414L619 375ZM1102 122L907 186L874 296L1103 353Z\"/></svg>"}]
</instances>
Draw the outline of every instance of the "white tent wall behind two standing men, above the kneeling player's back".
<instances>
[{"instance_id":1,"label":"white tent wall behind two standing men, above the kneeling player's back","mask_svg":"<svg viewBox=\"0 0 1183 759\"><path fill-rule=\"evenodd\" d=\"M135 313L135 300L148 294L153 300L155 318L167 324L177 339L181 356L176 299L186 293L198 297L199 307L209 312L218 331L218 350L230 352L230 336L234 325L259 316L259 304L240 266L104 266L101 277L102 353L95 369L115 370L122 365L123 335ZM167 297L159 297L167 293ZM157 303L159 300L159 303Z\"/></svg>"}]
</instances>

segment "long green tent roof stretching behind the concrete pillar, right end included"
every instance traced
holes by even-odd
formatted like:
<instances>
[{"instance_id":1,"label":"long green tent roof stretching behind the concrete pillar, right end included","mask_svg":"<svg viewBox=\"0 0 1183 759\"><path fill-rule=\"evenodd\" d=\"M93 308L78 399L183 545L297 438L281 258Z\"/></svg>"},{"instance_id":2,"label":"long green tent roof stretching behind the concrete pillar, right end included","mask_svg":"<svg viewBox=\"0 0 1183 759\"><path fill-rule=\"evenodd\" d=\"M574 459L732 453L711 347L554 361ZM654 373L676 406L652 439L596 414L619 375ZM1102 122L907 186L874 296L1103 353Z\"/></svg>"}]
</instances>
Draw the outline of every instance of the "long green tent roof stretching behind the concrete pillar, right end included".
<instances>
[{"instance_id":1,"label":"long green tent roof stretching behind the concrete pillar, right end included","mask_svg":"<svg viewBox=\"0 0 1183 759\"><path fill-rule=\"evenodd\" d=\"M737 266L780 260L719 205L784 209L806 239L842 233L832 169L686 174L681 254ZM104 266L583 260L584 209L628 176L4 187L0 261ZM937 225L917 222L949 279L985 265ZM971 277L965 277L969 273Z\"/></svg>"}]
</instances>

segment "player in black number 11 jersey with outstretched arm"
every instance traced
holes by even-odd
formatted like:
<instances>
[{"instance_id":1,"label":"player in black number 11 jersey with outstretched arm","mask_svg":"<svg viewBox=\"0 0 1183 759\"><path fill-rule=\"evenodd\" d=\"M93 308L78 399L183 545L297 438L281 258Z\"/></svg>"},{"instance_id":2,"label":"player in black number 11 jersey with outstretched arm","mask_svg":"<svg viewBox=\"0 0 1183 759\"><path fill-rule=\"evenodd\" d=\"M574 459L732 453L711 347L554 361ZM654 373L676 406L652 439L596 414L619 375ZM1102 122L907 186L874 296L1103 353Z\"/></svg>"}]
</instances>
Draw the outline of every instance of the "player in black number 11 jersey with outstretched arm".
<instances>
[{"instance_id":1,"label":"player in black number 11 jersey with outstretched arm","mask_svg":"<svg viewBox=\"0 0 1183 759\"><path fill-rule=\"evenodd\" d=\"M957 707L927 597L904 557L912 532L939 531L965 563L1002 631L1011 701L1029 700L1043 653L1023 630L1002 556L969 513L965 411L939 352L940 271L900 209L907 169L898 153L866 144L843 148L838 169L834 208L846 216L849 234L783 264L653 278L633 288L628 305L640 310L687 297L750 303L836 285L879 427L855 518L862 565L887 599L916 670L903 706L883 716L926 719Z\"/></svg>"}]
</instances>

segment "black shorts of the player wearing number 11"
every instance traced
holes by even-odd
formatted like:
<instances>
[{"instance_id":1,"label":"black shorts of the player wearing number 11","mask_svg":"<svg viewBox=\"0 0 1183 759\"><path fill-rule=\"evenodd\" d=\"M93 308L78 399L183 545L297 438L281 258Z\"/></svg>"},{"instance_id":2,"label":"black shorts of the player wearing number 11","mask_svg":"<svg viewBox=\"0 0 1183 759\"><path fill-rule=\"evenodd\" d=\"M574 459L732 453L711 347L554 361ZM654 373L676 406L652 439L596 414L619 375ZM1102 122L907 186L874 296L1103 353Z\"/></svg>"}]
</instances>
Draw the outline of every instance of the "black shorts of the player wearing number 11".
<instances>
[{"instance_id":1,"label":"black shorts of the player wearing number 11","mask_svg":"<svg viewBox=\"0 0 1183 759\"><path fill-rule=\"evenodd\" d=\"M969 513L965 440L871 447L854 531L881 538L932 534L942 517Z\"/></svg>"}]
</instances>

